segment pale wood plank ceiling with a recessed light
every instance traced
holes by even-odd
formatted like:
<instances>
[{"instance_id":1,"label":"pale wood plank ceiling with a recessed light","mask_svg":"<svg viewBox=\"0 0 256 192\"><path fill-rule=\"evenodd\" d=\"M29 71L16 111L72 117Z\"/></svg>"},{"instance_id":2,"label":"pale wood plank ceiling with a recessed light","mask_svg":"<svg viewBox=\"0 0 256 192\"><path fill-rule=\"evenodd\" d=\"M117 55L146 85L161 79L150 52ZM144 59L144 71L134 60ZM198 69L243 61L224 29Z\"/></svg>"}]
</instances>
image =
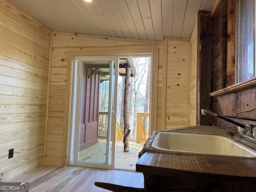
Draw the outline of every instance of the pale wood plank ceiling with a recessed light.
<instances>
[{"instance_id":1,"label":"pale wood plank ceiling with a recessed light","mask_svg":"<svg viewBox=\"0 0 256 192\"><path fill-rule=\"evenodd\" d=\"M190 38L215 0L9 0L53 31L162 41Z\"/></svg>"}]
</instances>

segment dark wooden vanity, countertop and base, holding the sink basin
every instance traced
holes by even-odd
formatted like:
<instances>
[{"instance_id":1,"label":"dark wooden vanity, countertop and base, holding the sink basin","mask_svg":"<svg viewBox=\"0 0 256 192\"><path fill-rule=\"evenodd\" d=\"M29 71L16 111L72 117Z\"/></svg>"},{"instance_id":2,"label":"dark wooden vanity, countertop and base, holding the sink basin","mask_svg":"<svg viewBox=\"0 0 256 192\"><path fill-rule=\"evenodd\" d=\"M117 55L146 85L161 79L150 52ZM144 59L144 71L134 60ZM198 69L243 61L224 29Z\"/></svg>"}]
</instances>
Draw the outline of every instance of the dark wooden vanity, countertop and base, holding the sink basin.
<instances>
[{"instance_id":1,"label":"dark wooden vanity, countertop and base, holding the sink basin","mask_svg":"<svg viewBox=\"0 0 256 192\"><path fill-rule=\"evenodd\" d=\"M228 134L215 126L192 126L162 131L222 136ZM158 152L151 146L156 132L144 144L136 163L136 171L144 174L144 188L209 192L256 190L256 158Z\"/></svg>"}]
</instances>

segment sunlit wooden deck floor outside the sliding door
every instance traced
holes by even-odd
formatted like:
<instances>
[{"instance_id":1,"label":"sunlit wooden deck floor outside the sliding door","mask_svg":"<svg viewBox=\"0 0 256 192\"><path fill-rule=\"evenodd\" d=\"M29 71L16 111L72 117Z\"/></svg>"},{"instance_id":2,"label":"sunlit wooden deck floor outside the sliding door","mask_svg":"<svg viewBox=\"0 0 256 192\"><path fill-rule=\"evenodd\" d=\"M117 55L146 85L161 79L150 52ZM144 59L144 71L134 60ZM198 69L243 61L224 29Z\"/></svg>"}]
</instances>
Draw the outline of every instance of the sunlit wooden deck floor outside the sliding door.
<instances>
[{"instance_id":1,"label":"sunlit wooden deck floor outside the sliding door","mask_svg":"<svg viewBox=\"0 0 256 192\"><path fill-rule=\"evenodd\" d=\"M112 142L111 142L112 144ZM129 142L129 152L124 152L122 141L116 141L115 167L135 170L138 154L144 143ZM78 152L78 160L104 163L106 159L106 139Z\"/></svg>"}]
</instances>

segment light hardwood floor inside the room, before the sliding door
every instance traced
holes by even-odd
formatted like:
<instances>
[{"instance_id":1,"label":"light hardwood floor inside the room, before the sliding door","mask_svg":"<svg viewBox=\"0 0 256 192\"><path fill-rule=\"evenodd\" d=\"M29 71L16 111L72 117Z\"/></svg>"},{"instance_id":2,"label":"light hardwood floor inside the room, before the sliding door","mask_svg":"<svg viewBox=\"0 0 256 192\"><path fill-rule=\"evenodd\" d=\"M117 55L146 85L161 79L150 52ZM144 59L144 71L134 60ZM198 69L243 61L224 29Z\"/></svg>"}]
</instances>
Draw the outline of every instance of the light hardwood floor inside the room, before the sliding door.
<instances>
[{"instance_id":1,"label":"light hardwood floor inside the room, before the sliding door","mask_svg":"<svg viewBox=\"0 0 256 192\"><path fill-rule=\"evenodd\" d=\"M29 182L29 192L109 192L94 182L144 188L142 173L78 166L41 166L8 182Z\"/></svg>"}]
</instances>

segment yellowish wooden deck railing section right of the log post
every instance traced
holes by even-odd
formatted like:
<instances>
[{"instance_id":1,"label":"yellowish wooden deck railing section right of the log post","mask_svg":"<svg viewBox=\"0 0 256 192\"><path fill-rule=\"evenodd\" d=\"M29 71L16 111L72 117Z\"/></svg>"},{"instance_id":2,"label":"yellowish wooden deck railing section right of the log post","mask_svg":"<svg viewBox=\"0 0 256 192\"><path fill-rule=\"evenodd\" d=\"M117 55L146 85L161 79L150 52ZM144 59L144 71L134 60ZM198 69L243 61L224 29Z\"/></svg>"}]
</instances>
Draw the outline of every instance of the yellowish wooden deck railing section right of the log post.
<instances>
[{"instance_id":1,"label":"yellowish wooden deck railing section right of the log post","mask_svg":"<svg viewBox=\"0 0 256 192\"><path fill-rule=\"evenodd\" d=\"M137 113L137 132L136 132L136 142L146 142L148 140L148 127L147 118L149 113Z\"/></svg>"}]
</instances>

